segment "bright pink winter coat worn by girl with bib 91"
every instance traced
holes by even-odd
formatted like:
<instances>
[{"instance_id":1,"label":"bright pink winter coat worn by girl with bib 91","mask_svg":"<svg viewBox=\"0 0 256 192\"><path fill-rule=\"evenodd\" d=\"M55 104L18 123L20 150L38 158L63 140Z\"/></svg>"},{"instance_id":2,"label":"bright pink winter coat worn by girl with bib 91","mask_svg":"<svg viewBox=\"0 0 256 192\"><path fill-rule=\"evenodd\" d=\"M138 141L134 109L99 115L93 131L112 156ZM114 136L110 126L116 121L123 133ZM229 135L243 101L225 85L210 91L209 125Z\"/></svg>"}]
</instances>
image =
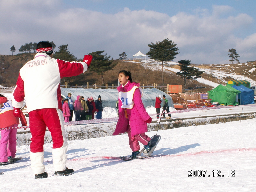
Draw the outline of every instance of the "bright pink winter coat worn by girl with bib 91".
<instances>
[{"instance_id":1,"label":"bright pink winter coat worn by girl with bib 91","mask_svg":"<svg viewBox=\"0 0 256 192\"><path fill-rule=\"evenodd\" d=\"M135 82L130 83L130 81L128 81L128 83L124 87L122 87L122 85L117 87L117 90L118 92L128 92L134 86L140 87L140 84ZM132 109L122 109L122 101L120 100L120 98L118 100L119 119L113 135L118 135L120 133L126 132L129 128L129 125L131 127L131 137L133 137L134 135L148 132L148 126L145 121L147 121L150 116L146 112L146 109L142 103L140 90L137 88L133 94L134 106ZM128 119L125 117L125 110L127 111Z\"/></svg>"}]
</instances>

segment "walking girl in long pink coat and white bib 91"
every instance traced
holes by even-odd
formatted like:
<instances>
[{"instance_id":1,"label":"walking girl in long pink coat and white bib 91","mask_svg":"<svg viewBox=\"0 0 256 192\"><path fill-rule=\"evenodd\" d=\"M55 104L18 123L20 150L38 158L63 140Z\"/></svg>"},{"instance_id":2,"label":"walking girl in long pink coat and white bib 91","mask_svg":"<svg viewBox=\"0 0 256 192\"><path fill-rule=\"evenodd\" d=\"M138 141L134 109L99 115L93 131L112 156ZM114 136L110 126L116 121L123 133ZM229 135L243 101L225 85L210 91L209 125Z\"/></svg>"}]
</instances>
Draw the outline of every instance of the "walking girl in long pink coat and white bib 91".
<instances>
[{"instance_id":1,"label":"walking girl in long pink coat and white bib 91","mask_svg":"<svg viewBox=\"0 0 256 192\"><path fill-rule=\"evenodd\" d=\"M140 153L139 142L145 147L144 153L148 153L151 149L150 137L145 132L148 132L147 123L151 123L152 118L148 115L142 103L140 84L132 81L131 73L124 70L120 71L118 80L121 84L117 87L119 119L113 135L128 132L129 144L132 149L130 158L135 159Z\"/></svg>"}]
</instances>

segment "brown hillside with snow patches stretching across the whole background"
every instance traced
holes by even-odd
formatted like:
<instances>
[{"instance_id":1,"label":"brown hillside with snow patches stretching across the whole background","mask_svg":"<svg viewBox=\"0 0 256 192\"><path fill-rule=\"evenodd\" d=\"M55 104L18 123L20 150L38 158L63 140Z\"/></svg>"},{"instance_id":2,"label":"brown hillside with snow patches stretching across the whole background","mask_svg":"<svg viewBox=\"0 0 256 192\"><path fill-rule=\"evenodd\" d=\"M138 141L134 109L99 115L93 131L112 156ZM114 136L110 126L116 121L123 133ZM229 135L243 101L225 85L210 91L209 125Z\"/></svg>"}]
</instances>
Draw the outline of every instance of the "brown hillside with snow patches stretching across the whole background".
<instances>
[{"instance_id":1,"label":"brown hillside with snow patches stretching across the whole background","mask_svg":"<svg viewBox=\"0 0 256 192\"><path fill-rule=\"evenodd\" d=\"M0 85L10 87L15 86L20 68L29 60L33 59L35 53L23 53L17 55L1 55L0 56ZM156 61L119 61L113 70L104 74L104 83L108 86L118 85L117 76L121 70L130 71L132 79L139 82L141 86L153 86L157 84L162 86L161 65ZM218 84L225 85L227 81L232 79L247 80L251 82L251 86L256 86L256 70L254 66L256 62L225 64L225 65L193 65L203 70L202 78L197 81L187 81L187 91L208 91ZM180 70L178 63L167 62L164 66L164 84L182 85L184 80L175 75ZM90 69L75 77L69 77L61 80L61 85L67 81L71 86L102 85L100 75L90 71ZM99 87L100 88L100 87ZM102 87L103 88L103 87Z\"/></svg>"}]
</instances>

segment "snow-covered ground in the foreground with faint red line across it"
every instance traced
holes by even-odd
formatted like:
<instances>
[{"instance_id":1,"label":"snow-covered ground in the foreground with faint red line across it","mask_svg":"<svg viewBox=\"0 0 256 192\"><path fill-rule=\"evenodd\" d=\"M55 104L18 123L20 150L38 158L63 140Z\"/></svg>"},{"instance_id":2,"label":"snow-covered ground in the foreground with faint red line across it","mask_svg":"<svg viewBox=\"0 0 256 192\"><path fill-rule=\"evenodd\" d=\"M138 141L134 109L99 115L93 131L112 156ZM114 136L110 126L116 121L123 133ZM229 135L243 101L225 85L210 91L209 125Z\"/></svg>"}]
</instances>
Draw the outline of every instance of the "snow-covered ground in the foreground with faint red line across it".
<instances>
[{"instance_id":1,"label":"snow-covered ground in the foreground with faint red line across it","mask_svg":"<svg viewBox=\"0 0 256 192\"><path fill-rule=\"evenodd\" d=\"M158 131L162 139L154 156L130 162L118 159L131 153L127 135L69 141L67 166L75 170L71 176L54 176L48 143L44 164L49 177L40 180L30 168L29 146L17 147L23 159L0 167L0 191L255 191L255 123L251 119ZM189 170L206 174L188 177ZM234 177L228 177L228 170L235 170Z\"/></svg>"}]
</instances>

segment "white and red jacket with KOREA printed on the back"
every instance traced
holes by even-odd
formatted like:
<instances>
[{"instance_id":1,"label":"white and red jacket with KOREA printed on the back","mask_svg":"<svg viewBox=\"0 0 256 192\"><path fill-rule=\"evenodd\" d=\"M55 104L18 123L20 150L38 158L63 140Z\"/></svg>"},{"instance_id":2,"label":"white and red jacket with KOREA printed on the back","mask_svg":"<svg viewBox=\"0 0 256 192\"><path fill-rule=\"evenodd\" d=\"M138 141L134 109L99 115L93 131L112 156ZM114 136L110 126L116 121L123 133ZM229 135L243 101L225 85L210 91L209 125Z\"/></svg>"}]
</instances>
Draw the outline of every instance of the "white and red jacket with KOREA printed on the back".
<instances>
[{"instance_id":1,"label":"white and red jacket with KOREA printed on the back","mask_svg":"<svg viewBox=\"0 0 256 192\"><path fill-rule=\"evenodd\" d=\"M21 108L26 99L27 112L43 109L62 109L60 79L84 73L85 62L68 62L51 58L45 53L37 53L35 59L21 69L13 90L13 107ZM38 98L44 102L38 102Z\"/></svg>"}]
</instances>

